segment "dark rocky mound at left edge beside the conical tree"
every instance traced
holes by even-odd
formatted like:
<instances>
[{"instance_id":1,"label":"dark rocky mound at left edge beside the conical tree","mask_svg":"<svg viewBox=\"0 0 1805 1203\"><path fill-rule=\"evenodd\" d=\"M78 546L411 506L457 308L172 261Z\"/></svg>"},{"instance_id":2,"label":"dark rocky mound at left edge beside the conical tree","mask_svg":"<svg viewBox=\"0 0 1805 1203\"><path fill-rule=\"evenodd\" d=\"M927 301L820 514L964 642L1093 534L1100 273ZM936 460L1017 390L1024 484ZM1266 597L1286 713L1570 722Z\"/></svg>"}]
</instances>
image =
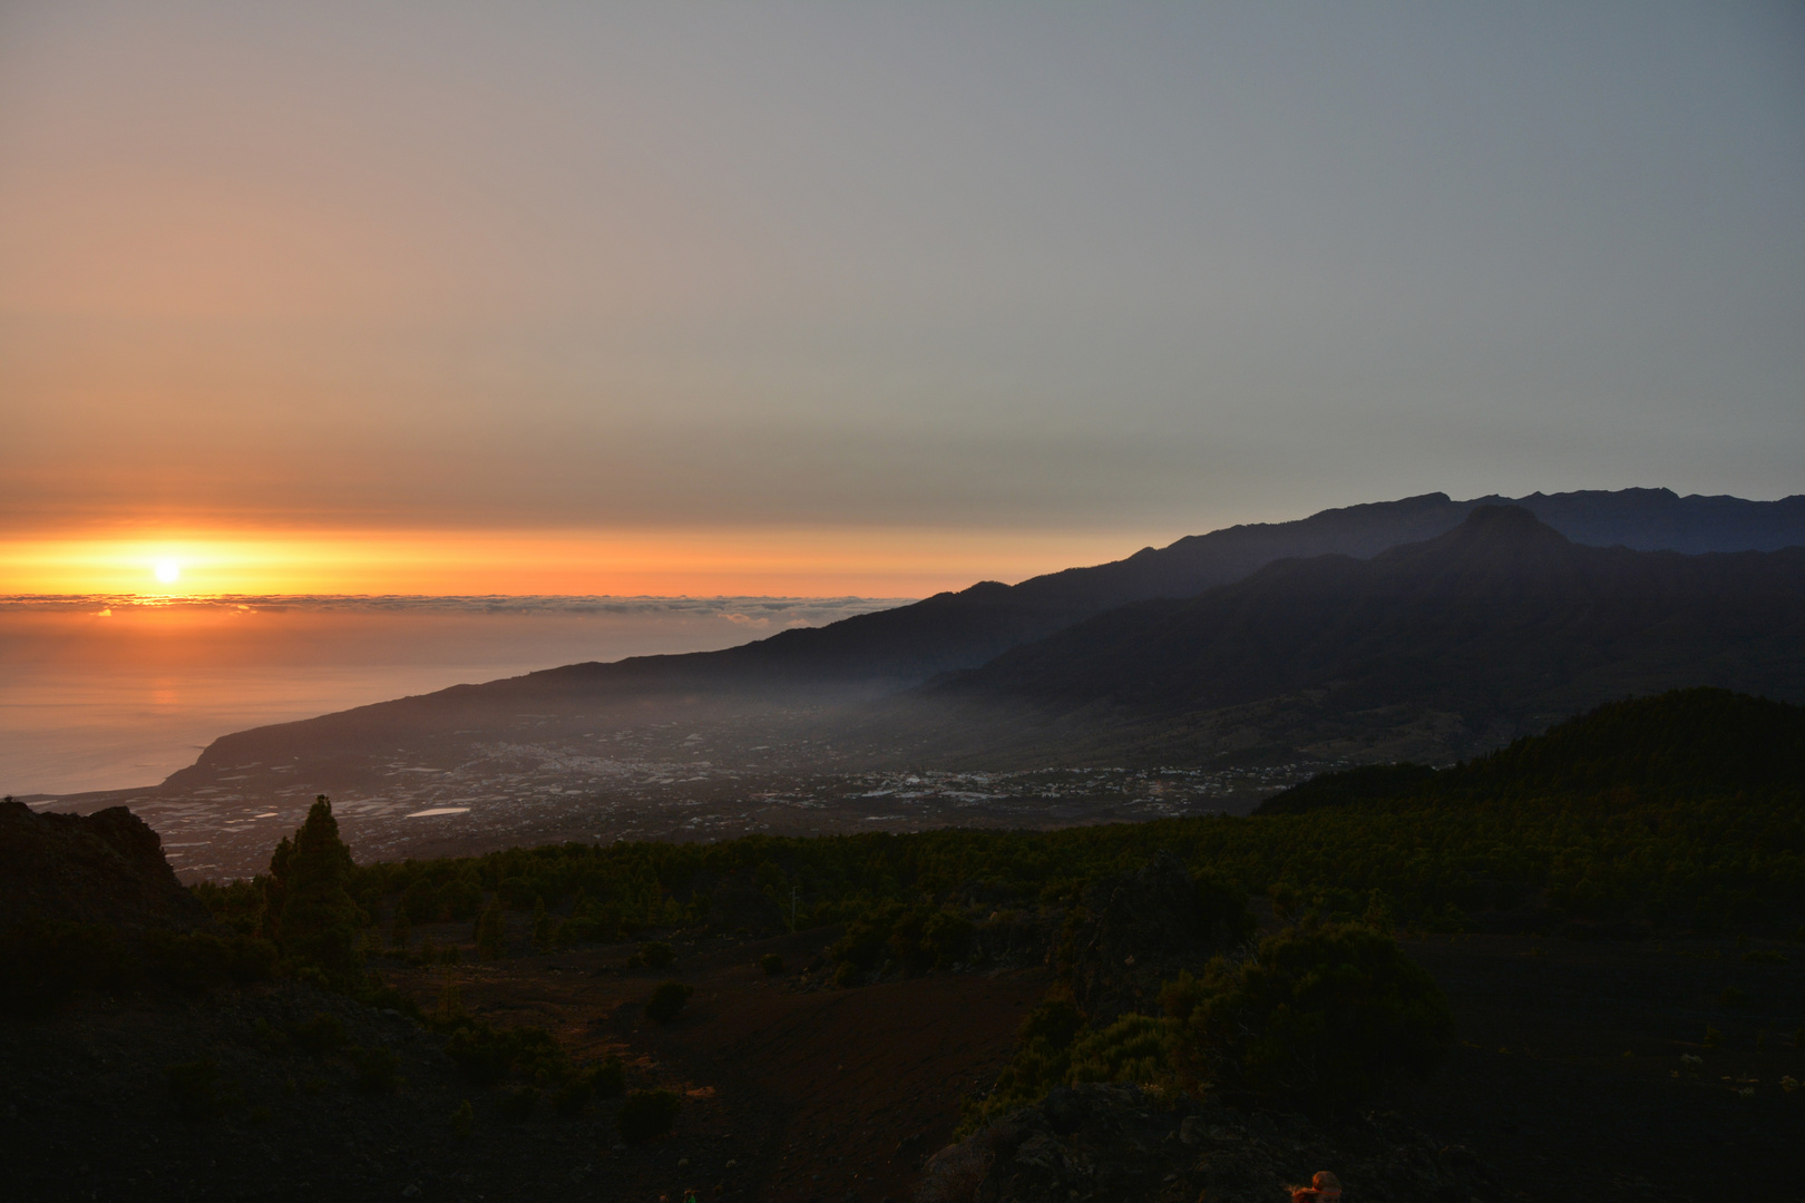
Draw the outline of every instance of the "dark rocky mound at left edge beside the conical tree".
<instances>
[{"instance_id":1,"label":"dark rocky mound at left edge beside the conical tree","mask_svg":"<svg viewBox=\"0 0 1805 1203\"><path fill-rule=\"evenodd\" d=\"M166 931L211 922L125 806L52 815L11 801L0 803L0 914Z\"/></svg>"}]
</instances>

